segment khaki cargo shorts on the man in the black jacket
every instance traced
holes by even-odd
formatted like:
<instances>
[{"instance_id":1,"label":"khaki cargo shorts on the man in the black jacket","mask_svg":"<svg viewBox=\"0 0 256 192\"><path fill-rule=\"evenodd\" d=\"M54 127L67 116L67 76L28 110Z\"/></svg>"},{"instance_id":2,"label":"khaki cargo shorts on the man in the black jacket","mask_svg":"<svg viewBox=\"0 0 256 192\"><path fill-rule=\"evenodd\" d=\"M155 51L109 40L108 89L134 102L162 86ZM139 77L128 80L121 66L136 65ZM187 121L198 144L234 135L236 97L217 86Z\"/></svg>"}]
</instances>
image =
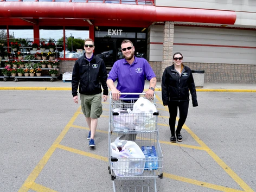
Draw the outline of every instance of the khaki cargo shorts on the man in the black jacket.
<instances>
[{"instance_id":1,"label":"khaki cargo shorts on the man in the black jacket","mask_svg":"<svg viewBox=\"0 0 256 192\"><path fill-rule=\"evenodd\" d=\"M98 119L102 114L101 93L95 95L84 95L80 93L82 113L85 117Z\"/></svg>"}]
</instances>

